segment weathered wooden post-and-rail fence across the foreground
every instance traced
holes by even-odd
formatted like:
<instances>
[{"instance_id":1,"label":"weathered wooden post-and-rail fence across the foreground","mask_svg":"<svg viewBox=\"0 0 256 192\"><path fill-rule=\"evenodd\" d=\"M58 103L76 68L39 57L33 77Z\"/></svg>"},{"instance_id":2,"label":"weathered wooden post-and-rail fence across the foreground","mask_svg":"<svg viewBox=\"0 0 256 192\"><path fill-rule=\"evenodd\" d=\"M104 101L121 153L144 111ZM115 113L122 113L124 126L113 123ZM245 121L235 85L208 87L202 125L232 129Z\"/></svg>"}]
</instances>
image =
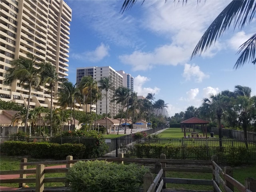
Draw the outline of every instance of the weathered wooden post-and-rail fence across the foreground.
<instances>
[{"instance_id":1,"label":"weathered wooden post-and-rail fence across the foreground","mask_svg":"<svg viewBox=\"0 0 256 192\"><path fill-rule=\"evenodd\" d=\"M245 186L240 182L236 181L232 176L233 172L230 167L224 167L224 170L218 166L216 156L212 157L212 161L199 161L199 160L172 160L165 159L165 155L161 154L160 159L149 159L149 158L123 158L123 155L118 155L118 158L106 158L106 159L85 159L89 160L107 160L112 162L134 162L140 164L155 164L154 167L150 167L151 173L144 175L144 192L168 192L170 191L166 188L167 183L175 184L195 184L195 185L211 185L214 188L214 192L221 192L220 186L224 188L226 192L234 192L234 187L237 188L239 192L256 192L256 180L248 178L246 180ZM19 186L22 184L24 186L26 183L36 183L35 189L26 188L21 191L26 192L46 192L48 191L44 188L44 183L47 182L64 182L65 186L68 186L66 177L58 178L46 178L45 174L49 173L67 173L69 168L73 163L78 160L73 160L72 156L67 156L66 160L63 161L48 161L48 162L27 162L23 159L20 163L21 170L15 171L0 171L0 175L8 174L19 174L20 178L17 179L1 179L0 183L17 183ZM66 168L47 168L45 164L66 164ZM36 169L26 169L29 165L36 165ZM180 165L181 167L175 167ZM189 165L190 167L184 167ZM201 165L206 166L205 168L193 168L193 166ZM210 167L212 166L212 167ZM212 180L203 179L190 179L190 178L167 178L166 172L168 171L180 171L180 172L200 172L200 173L212 173ZM157 174L153 177L153 174ZM35 178L26 178L27 174L35 174ZM50 191L69 191L67 188L61 189L51 189ZM193 190L190 190L193 191ZM5 190L5 192L9 192Z\"/></svg>"}]
</instances>

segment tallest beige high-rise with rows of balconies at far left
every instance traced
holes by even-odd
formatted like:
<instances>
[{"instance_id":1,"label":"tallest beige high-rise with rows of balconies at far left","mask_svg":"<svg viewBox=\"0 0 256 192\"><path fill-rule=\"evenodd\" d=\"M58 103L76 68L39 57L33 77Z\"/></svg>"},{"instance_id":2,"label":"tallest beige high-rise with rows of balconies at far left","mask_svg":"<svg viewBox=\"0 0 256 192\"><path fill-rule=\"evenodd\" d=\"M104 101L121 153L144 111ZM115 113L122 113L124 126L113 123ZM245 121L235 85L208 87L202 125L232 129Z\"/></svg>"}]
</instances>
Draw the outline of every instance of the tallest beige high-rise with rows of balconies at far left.
<instances>
[{"instance_id":1,"label":"tallest beige high-rise with rows of balconies at far left","mask_svg":"<svg viewBox=\"0 0 256 192\"><path fill-rule=\"evenodd\" d=\"M49 61L60 77L68 76L69 31L72 10L63 0L0 0L0 99L28 105L28 89L19 81L3 85L10 62L33 54ZM54 92L54 106L56 92ZM30 108L50 107L50 90L32 88Z\"/></svg>"}]
</instances>

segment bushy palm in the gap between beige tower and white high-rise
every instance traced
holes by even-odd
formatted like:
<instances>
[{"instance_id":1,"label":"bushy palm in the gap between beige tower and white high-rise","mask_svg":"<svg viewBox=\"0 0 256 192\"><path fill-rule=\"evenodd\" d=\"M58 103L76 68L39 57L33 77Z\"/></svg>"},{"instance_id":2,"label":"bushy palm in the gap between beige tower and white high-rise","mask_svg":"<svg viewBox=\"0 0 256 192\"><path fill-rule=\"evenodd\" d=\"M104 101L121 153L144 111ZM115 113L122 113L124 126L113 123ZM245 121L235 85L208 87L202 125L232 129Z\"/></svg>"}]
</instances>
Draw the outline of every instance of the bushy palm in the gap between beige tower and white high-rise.
<instances>
[{"instance_id":1,"label":"bushy palm in the gap between beige tower and white high-rise","mask_svg":"<svg viewBox=\"0 0 256 192\"><path fill-rule=\"evenodd\" d=\"M60 87L61 89L58 92L58 102L63 108L66 109L67 107L70 107L70 110L73 111L73 120L75 126L75 106L76 103L81 104L82 94L76 87L76 84L69 81L63 82L60 84Z\"/></svg>"}]
</instances>

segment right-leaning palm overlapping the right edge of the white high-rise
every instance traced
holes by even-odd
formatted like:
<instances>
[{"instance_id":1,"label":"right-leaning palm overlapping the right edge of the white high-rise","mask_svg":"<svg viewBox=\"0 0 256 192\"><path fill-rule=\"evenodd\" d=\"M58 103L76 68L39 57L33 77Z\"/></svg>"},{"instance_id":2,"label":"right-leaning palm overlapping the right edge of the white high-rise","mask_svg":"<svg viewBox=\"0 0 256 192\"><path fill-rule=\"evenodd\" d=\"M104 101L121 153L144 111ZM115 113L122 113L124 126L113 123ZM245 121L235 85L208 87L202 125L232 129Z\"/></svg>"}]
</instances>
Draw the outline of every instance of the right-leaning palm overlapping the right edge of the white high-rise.
<instances>
[{"instance_id":1,"label":"right-leaning palm overlapping the right edge of the white high-rise","mask_svg":"<svg viewBox=\"0 0 256 192\"><path fill-rule=\"evenodd\" d=\"M119 129L121 126L121 121L123 118L123 113L124 113L124 107L127 101L127 98L129 96L129 92L130 90L127 87L118 87L115 90L115 95L114 95L114 99L112 99L112 102L116 101L116 103L121 103L123 108L122 108L122 112L121 112L121 118L120 118L120 122L119 122L119 126L118 126L118 130L117 130L117 134L119 134Z\"/></svg>"}]
</instances>

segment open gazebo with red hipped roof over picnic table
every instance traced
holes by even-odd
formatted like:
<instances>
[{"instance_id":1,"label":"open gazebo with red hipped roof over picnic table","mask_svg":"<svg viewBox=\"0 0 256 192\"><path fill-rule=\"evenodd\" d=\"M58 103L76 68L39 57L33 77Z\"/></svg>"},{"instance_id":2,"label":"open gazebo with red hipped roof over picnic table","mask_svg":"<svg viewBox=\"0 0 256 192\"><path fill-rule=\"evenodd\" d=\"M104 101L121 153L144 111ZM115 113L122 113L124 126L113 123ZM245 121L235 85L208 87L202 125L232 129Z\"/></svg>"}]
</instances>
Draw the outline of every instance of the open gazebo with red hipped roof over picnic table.
<instances>
[{"instance_id":1,"label":"open gazebo with red hipped roof over picnic table","mask_svg":"<svg viewBox=\"0 0 256 192\"><path fill-rule=\"evenodd\" d=\"M202 130L203 130L203 136L205 138L207 138L207 128L206 128L206 124L208 124L208 121L199 119L197 117L192 117L190 119L184 120L182 122L180 122L181 124L181 128L184 130L184 138L186 138L186 126L190 126L192 125L193 127L193 132L195 131L195 125L201 125Z\"/></svg>"}]
</instances>

